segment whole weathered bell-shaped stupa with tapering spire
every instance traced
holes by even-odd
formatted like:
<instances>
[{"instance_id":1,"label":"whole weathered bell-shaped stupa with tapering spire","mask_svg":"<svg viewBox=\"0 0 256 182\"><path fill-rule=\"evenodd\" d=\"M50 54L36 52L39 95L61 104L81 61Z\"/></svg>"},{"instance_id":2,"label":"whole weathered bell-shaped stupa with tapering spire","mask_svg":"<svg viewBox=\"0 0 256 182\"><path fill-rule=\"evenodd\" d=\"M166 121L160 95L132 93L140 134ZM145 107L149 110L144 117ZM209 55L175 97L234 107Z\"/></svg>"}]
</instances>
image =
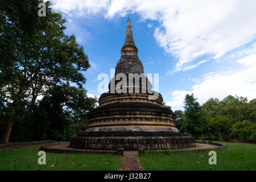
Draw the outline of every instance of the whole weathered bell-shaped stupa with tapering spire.
<instances>
[{"instance_id":1,"label":"whole weathered bell-shaped stupa with tapering spire","mask_svg":"<svg viewBox=\"0 0 256 182\"><path fill-rule=\"evenodd\" d=\"M121 78L122 84L120 84ZM129 79L140 75L139 82L129 84ZM117 92L115 89L126 90ZM146 90L146 92L145 92ZM131 91L131 92L129 92ZM88 127L83 134L72 138L69 147L93 150L168 150L196 145L195 138L176 129L175 115L163 107L163 97L152 90L150 81L138 57L131 31L126 27L125 43L121 59L115 67L115 77L109 84L109 92L101 94L99 107L90 111Z\"/></svg>"}]
</instances>

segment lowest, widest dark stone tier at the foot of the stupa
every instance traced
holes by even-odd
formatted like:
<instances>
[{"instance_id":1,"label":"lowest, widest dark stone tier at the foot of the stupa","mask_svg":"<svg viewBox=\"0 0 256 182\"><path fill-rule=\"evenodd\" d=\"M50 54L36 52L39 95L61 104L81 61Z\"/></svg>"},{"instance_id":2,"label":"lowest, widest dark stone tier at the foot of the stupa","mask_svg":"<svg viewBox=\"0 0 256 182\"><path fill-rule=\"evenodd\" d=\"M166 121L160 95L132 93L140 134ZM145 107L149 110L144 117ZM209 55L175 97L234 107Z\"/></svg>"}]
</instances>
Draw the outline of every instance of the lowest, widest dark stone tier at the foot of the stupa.
<instances>
[{"instance_id":1,"label":"lowest, widest dark stone tier at the foot of the stupa","mask_svg":"<svg viewBox=\"0 0 256 182\"><path fill-rule=\"evenodd\" d=\"M193 137L76 137L71 139L70 147L94 150L168 150L195 147Z\"/></svg>"}]
</instances>

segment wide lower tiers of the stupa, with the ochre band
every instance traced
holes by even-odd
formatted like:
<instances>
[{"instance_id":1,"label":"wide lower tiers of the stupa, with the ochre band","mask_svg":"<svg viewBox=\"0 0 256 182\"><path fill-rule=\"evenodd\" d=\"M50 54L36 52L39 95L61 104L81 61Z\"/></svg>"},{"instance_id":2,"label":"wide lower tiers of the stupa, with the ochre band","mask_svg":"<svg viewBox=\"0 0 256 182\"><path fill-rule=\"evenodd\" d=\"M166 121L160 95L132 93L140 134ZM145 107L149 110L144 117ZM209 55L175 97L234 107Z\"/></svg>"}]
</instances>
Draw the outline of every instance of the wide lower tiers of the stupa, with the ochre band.
<instances>
[{"instance_id":1,"label":"wide lower tiers of the stupa, with the ochre band","mask_svg":"<svg viewBox=\"0 0 256 182\"><path fill-rule=\"evenodd\" d=\"M93 150L168 150L195 146L195 138L176 129L170 109L138 102L94 109L85 132L70 143L72 148Z\"/></svg>"}]
</instances>

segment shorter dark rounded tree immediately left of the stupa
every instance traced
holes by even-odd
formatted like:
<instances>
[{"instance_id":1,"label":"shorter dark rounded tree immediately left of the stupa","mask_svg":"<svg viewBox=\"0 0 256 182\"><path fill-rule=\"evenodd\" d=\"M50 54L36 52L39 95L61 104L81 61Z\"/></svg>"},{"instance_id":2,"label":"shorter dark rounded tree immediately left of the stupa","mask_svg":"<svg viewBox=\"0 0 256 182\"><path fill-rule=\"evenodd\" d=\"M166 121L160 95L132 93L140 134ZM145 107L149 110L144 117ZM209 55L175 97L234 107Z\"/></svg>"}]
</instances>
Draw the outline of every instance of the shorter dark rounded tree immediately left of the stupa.
<instances>
[{"instance_id":1,"label":"shorter dark rounded tree immediately left of the stupa","mask_svg":"<svg viewBox=\"0 0 256 182\"><path fill-rule=\"evenodd\" d=\"M75 86L56 85L49 89L46 96L39 102L39 109L43 110L46 117L41 123L47 123L47 135L52 139L70 138L76 131L79 122L86 123L87 114L96 107L97 100L86 96L84 89ZM37 112L40 114L40 112ZM34 117L36 118L36 117ZM72 132L72 134L68 130Z\"/></svg>"}]
</instances>

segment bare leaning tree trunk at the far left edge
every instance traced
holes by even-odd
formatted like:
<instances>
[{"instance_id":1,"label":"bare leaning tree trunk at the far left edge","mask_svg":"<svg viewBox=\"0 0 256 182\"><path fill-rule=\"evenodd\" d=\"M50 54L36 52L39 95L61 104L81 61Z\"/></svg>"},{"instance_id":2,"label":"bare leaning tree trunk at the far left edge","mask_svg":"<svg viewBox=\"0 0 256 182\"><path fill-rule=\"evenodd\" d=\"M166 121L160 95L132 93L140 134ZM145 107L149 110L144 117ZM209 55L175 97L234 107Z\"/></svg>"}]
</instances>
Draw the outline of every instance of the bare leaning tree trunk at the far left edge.
<instances>
[{"instance_id":1,"label":"bare leaning tree trunk at the far left edge","mask_svg":"<svg viewBox=\"0 0 256 182\"><path fill-rule=\"evenodd\" d=\"M18 97L20 97L26 88L26 85L23 83L22 86L20 86L19 92L18 92ZM11 111L11 116L9 121L6 122L6 127L5 127L5 132L3 132L1 142L2 143L8 143L10 134L11 134L11 129L13 128L13 119L14 119L14 113L15 113L15 107L19 102L19 98L15 99L13 101L13 110Z\"/></svg>"}]
</instances>

